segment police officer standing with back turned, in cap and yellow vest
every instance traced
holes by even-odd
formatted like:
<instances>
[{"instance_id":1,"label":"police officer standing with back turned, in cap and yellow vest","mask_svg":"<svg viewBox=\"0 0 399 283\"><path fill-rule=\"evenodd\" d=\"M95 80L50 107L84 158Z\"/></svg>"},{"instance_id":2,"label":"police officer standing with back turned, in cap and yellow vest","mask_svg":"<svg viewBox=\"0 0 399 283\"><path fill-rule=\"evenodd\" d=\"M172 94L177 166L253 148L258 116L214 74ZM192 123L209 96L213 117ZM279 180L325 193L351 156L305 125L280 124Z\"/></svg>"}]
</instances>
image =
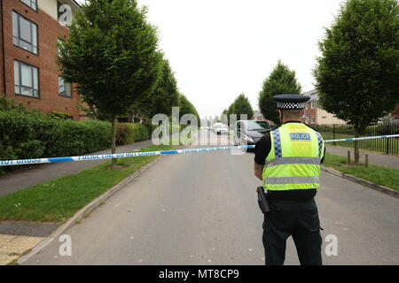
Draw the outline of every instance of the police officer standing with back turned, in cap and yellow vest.
<instances>
[{"instance_id":1,"label":"police officer standing with back turned, in cap and yellow vest","mask_svg":"<svg viewBox=\"0 0 399 283\"><path fill-rule=\"evenodd\" d=\"M321 228L314 197L325 144L321 134L301 123L309 96L273 98L282 124L256 143L254 157L254 174L263 181L270 203L263 222L265 261L284 264L286 239L293 236L301 265L321 265Z\"/></svg>"}]
</instances>

